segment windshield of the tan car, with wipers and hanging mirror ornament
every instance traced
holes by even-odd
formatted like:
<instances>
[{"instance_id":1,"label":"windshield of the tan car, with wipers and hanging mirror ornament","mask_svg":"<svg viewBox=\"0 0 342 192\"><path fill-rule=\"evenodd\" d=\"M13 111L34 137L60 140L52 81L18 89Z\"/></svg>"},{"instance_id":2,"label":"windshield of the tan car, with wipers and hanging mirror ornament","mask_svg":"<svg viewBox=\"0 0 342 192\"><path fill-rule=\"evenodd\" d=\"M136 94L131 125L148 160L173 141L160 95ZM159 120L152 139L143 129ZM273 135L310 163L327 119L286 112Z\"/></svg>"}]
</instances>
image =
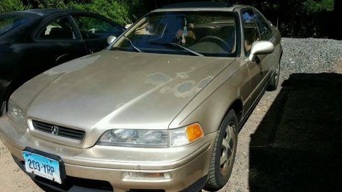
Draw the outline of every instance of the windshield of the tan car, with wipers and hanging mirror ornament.
<instances>
[{"instance_id":1,"label":"windshield of the tan car, with wipers and hanging mirror ornament","mask_svg":"<svg viewBox=\"0 0 342 192\"><path fill-rule=\"evenodd\" d=\"M153 12L124 33L111 50L235 57L236 26L232 12Z\"/></svg>"}]
</instances>

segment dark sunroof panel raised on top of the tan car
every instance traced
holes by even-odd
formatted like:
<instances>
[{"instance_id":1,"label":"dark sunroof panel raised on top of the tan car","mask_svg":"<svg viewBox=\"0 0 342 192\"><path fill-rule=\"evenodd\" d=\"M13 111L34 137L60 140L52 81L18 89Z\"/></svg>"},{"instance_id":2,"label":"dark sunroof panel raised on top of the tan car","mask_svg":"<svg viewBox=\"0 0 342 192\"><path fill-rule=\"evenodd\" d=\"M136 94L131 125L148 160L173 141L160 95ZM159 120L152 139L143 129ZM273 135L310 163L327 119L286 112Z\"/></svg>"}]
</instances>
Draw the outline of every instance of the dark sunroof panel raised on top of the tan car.
<instances>
[{"instance_id":1,"label":"dark sunroof panel raised on top of the tan car","mask_svg":"<svg viewBox=\"0 0 342 192\"><path fill-rule=\"evenodd\" d=\"M230 8L233 4L231 3L220 3L220 2L187 2L187 3L174 3L163 6L163 9L173 8Z\"/></svg>"}]
</instances>

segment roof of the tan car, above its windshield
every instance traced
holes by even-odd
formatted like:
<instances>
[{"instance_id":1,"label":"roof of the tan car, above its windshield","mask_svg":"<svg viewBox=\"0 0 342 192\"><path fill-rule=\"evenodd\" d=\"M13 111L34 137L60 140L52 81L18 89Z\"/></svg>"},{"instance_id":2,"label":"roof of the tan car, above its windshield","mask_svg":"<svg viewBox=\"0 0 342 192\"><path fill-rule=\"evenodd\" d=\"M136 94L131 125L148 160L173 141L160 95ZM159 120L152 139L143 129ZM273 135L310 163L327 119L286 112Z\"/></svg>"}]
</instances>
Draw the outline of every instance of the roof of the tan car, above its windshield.
<instances>
[{"instance_id":1,"label":"roof of the tan car, above its windshield","mask_svg":"<svg viewBox=\"0 0 342 192\"><path fill-rule=\"evenodd\" d=\"M175 11L239 11L243 8L252 8L247 5L233 5L220 2L187 2L165 5L163 8L153 12L175 12Z\"/></svg>"}]
</instances>

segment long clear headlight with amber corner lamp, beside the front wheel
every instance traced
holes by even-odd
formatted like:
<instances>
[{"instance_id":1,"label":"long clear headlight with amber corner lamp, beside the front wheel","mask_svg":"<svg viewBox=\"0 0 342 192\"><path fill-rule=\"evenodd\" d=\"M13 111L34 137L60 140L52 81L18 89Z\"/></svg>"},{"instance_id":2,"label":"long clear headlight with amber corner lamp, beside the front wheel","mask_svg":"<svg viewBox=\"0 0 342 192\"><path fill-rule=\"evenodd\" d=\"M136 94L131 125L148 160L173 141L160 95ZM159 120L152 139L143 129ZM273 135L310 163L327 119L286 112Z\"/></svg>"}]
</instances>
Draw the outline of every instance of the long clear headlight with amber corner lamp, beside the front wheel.
<instances>
[{"instance_id":1,"label":"long clear headlight with amber corner lamp, beside the front wheel","mask_svg":"<svg viewBox=\"0 0 342 192\"><path fill-rule=\"evenodd\" d=\"M169 137L170 136L170 137ZM161 147L185 146L203 137L200 124L172 130L111 129L98 140L101 146Z\"/></svg>"}]
</instances>

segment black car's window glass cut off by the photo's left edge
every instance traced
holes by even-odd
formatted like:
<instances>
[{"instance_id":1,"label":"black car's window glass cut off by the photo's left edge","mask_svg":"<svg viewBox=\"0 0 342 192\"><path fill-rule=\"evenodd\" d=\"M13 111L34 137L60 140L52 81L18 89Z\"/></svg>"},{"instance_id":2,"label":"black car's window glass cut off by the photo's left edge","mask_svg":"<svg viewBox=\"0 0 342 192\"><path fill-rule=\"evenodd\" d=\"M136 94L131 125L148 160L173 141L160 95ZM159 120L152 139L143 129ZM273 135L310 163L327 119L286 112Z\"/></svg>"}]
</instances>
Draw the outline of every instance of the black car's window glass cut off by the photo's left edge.
<instances>
[{"instance_id":1,"label":"black car's window glass cut off by the photo's left edge","mask_svg":"<svg viewBox=\"0 0 342 192\"><path fill-rule=\"evenodd\" d=\"M29 18L14 14L0 14L0 36L7 31L26 23Z\"/></svg>"}]
</instances>

